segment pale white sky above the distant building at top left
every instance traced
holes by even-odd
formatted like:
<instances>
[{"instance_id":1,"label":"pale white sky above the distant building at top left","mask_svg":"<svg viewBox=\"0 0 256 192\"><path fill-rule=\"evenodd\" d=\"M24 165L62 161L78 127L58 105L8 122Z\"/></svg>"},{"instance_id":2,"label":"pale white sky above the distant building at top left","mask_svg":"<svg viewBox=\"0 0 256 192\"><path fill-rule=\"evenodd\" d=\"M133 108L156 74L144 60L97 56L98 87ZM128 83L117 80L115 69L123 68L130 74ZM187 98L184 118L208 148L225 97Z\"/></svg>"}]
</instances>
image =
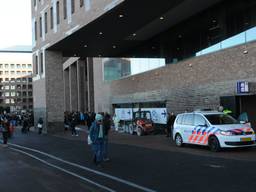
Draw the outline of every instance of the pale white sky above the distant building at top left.
<instances>
[{"instance_id":1,"label":"pale white sky above the distant building at top left","mask_svg":"<svg viewBox=\"0 0 256 192\"><path fill-rule=\"evenodd\" d=\"M0 0L0 49L32 45L31 0Z\"/></svg>"}]
</instances>

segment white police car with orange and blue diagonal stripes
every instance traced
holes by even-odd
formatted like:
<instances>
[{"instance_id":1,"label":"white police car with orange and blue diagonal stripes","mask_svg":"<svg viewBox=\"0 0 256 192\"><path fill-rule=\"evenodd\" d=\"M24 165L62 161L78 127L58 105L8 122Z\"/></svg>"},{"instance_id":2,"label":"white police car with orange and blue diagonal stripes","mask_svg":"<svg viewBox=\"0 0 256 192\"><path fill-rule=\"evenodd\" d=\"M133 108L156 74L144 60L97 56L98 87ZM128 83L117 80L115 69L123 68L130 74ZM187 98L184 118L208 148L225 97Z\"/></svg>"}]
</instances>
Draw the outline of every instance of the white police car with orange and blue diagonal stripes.
<instances>
[{"instance_id":1,"label":"white police car with orange and blue diagonal stripes","mask_svg":"<svg viewBox=\"0 0 256 192\"><path fill-rule=\"evenodd\" d=\"M173 140L178 147L184 143L197 144L209 146L211 151L256 144L255 132L249 124L242 124L217 111L177 115L173 126Z\"/></svg>"}]
</instances>

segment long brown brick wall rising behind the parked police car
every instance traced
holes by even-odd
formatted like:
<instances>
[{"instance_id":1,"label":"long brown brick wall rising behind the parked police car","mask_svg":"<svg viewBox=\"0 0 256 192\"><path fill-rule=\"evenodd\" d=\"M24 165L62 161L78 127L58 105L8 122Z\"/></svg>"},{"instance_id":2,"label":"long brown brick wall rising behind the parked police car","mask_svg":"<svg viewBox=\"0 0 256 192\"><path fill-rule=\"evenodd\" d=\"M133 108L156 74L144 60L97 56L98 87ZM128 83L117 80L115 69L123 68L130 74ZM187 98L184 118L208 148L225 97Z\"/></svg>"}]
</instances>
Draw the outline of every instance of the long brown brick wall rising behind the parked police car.
<instances>
[{"instance_id":1,"label":"long brown brick wall rising behind the parked police car","mask_svg":"<svg viewBox=\"0 0 256 192\"><path fill-rule=\"evenodd\" d=\"M236 82L256 82L256 42L113 81L112 103L166 101L170 111L219 105L236 94ZM254 86L255 87L255 86ZM256 93L255 89L252 92Z\"/></svg>"}]
</instances>

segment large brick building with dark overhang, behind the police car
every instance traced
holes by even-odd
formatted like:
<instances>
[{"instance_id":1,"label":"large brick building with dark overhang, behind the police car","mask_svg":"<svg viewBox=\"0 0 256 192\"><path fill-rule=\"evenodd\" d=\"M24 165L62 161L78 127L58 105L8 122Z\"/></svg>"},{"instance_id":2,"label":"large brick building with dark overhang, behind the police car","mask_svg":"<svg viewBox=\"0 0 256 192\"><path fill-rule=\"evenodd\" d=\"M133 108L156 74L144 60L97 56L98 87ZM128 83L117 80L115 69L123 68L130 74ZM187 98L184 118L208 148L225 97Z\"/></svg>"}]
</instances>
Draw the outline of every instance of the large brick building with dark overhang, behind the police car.
<instances>
[{"instance_id":1,"label":"large brick building with dark overhang, behind the police car","mask_svg":"<svg viewBox=\"0 0 256 192\"><path fill-rule=\"evenodd\" d=\"M179 113L223 104L255 125L255 1L32 2L34 115L45 131L62 128L65 110L133 105ZM167 65L104 81L108 57Z\"/></svg>"}]
</instances>

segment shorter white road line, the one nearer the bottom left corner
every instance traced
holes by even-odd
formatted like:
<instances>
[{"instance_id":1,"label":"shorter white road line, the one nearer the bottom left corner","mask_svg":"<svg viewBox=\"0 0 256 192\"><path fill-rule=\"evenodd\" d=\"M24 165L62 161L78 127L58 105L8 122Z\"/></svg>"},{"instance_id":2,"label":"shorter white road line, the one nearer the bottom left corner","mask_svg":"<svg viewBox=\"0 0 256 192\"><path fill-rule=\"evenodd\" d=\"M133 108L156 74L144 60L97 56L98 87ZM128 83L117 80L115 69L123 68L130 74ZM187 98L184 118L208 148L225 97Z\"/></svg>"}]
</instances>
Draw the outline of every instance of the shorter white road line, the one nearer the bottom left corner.
<instances>
[{"instance_id":1,"label":"shorter white road line, the one nearer the bottom left corner","mask_svg":"<svg viewBox=\"0 0 256 192\"><path fill-rule=\"evenodd\" d=\"M53 165L53 164L51 164L51 163L48 163L47 161L45 161L45 160L43 160L43 159L40 159L40 158L38 158L38 157L36 157L36 156L34 156L34 155L31 155L31 154L29 154L29 153L26 153L26 152L24 152L24 151L22 151L22 150L15 149L15 148L12 148L12 147L10 147L10 149L12 149L12 150L14 150L14 151L17 151L17 152L19 152L19 153L25 154L25 155L27 155L27 156L29 156L29 157L35 159L35 160L40 161L41 163L44 163L44 164L46 164L46 165L48 165L48 166L50 166L50 167L53 167L53 168L58 169L58 170L60 170L60 171L62 171L62 172L65 172L65 173L67 173L67 174L69 174L69 175L72 175L72 176L74 176L74 177L77 177L77 178L79 178L79 179L81 179L81 180L83 180L83 181L86 181L87 183L90 183L90 184L92 184L92 185L95 185L95 186L97 186L97 187L99 187L99 188L101 188L101 189L105 189L106 191L109 191L109 192L116 192L116 191L113 190L113 189L110 189L110 188L108 188L108 187L106 187L106 186L104 186L104 185L101 185L101 184L96 183L96 182L94 182L94 181L92 181L92 180L90 180L90 179L87 179L87 178L85 178L85 177L82 177L82 176L80 176L80 175L78 175L78 174L76 174L76 173L74 173L74 172L68 171L68 170L63 169L63 168L61 168L61 167L59 167L59 166Z\"/></svg>"}]
</instances>

